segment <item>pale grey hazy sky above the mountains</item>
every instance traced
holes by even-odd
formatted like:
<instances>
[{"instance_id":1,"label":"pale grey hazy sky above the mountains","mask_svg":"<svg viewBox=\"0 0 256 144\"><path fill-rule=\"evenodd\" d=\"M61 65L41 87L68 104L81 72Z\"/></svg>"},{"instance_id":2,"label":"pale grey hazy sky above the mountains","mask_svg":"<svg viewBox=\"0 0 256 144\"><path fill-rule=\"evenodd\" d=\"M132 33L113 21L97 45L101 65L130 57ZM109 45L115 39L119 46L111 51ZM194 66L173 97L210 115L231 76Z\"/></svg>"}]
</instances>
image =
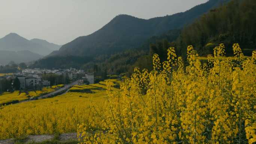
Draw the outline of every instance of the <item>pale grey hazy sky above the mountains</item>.
<instances>
[{"instance_id":1,"label":"pale grey hazy sky above the mountains","mask_svg":"<svg viewBox=\"0 0 256 144\"><path fill-rule=\"evenodd\" d=\"M63 45L93 33L119 14L149 19L207 0L0 0L0 38L17 33Z\"/></svg>"}]
</instances>

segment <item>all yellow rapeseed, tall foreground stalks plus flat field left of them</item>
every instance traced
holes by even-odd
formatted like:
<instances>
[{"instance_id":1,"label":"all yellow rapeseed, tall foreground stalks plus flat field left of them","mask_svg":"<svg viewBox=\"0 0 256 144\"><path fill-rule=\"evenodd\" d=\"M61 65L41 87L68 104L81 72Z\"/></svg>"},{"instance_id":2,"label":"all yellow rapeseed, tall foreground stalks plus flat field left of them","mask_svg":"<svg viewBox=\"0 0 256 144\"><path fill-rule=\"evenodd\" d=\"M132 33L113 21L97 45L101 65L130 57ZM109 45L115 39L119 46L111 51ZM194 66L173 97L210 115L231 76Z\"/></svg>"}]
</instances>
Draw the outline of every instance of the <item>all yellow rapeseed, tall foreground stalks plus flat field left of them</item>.
<instances>
[{"instance_id":1,"label":"all yellow rapeseed, tall foreground stalks plus flat field left of them","mask_svg":"<svg viewBox=\"0 0 256 144\"><path fill-rule=\"evenodd\" d=\"M116 88L106 80L54 98L7 105L0 138L77 132L81 144L253 144L256 142L256 51L245 57L220 44L201 63L188 46L188 66L168 49L153 70L134 69ZM94 89L97 87L97 89Z\"/></svg>"}]
</instances>

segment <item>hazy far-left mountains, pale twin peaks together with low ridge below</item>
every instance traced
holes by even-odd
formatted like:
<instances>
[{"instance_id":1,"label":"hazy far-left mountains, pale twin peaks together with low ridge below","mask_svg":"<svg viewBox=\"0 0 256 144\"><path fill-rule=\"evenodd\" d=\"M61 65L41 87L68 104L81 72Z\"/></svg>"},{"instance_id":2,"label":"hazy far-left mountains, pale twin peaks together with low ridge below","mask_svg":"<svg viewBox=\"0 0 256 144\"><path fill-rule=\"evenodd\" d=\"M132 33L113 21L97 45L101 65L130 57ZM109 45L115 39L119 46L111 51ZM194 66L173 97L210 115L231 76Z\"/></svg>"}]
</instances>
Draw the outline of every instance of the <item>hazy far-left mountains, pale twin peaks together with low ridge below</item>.
<instances>
[{"instance_id":1,"label":"hazy far-left mountains, pale twin peaks together with low ridge below","mask_svg":"<svg viewBox=\"0 0 256 144\"><path fill-rule=\"evenodd\" d=\"M0 64L10 61L30 62L48 55L61 46L46 40L28 40L16 33L10 33L0 39Z\"/></svg>"}]
</instances>

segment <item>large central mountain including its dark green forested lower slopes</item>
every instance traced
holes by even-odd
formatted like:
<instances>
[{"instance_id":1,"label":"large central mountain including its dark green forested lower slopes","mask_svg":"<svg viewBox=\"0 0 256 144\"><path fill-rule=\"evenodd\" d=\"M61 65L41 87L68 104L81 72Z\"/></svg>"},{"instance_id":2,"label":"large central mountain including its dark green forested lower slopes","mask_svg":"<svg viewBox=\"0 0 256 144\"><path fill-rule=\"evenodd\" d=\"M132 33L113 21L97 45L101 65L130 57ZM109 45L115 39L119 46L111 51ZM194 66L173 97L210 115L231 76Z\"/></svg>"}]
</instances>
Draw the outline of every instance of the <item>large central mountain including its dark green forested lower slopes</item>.
<instances>
[{"instance_id":1,"label":"large central mountain including its dark green forested lower slopes","mask_svg":"<svg viewBox=\"0 0 256 144\"><path fill-rule=\"evenodd\" d=\"M184 26L191 24L201 15L230 0L209 0L186 12L152 19L140 19L129 15L118 15L100 30L81 36L63 45L31 67L68 68L79 67L86 70L100 64L103 69L113 69L120 65L133 65L140 56L135 53L149 52L149 44L167 39L172 42L179 37ZM130 50L125 52L126 50ZM128 54L127 54L128 53ZM117 54L117 55L115 55ZM115 65L106 65L113 60ZM118 60L120 58L120 60ZM101 70L103 70L101 69ZM119 68L121 72L122 67ZM128 68L129 69L129 68Z\"/></svg>"}]
</instances>

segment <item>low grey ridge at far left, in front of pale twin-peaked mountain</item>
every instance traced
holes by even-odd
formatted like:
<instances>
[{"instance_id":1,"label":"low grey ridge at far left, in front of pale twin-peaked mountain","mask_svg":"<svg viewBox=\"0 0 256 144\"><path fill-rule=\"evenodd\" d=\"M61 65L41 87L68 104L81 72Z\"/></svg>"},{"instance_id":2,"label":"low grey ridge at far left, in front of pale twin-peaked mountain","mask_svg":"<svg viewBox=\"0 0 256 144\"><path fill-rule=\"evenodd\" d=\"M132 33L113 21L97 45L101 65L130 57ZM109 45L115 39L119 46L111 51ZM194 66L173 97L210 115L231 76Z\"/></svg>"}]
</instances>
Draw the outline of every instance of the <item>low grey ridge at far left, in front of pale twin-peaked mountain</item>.
<instances>
[{"instance_id":1,"label":"low grey ridge at far left, in front of pale twin-peaked mountain","mask_svg":"<svg viewBox=\"0 0 256 144\"><path fill-rule=\"evenodd\" d=\"M21 62L30 62L42 57L42 55L30 52L28 50L22 50L17 52L0 50L0 65L6 65L10 61L14 61L16 64L19 64Z\"/></svg>"}]
</instances>

